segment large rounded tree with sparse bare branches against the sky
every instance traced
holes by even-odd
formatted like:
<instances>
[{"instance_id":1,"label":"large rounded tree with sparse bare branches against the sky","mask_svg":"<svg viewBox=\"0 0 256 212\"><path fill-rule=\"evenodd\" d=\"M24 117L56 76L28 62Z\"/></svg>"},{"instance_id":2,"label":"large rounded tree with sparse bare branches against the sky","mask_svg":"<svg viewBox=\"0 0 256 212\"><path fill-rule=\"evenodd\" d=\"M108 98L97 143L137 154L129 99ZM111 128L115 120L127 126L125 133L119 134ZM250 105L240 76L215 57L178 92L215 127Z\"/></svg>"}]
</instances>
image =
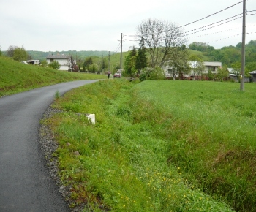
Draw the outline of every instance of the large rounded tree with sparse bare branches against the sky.
<instances>
[{"instance_id":1,"label":"large rounded tree with sparse bare branches against the sky","mask_svg":"<svg viewBox=\"0 0 256 212\"><path fill-rule=\"evenodd\" d=\"M148 18L140 23L137 31L138 36L145 40L151 67L162 67L169 60L171 49L183 45L187 40L175 23L156 18Z\"/></svg>"}]
</instances>

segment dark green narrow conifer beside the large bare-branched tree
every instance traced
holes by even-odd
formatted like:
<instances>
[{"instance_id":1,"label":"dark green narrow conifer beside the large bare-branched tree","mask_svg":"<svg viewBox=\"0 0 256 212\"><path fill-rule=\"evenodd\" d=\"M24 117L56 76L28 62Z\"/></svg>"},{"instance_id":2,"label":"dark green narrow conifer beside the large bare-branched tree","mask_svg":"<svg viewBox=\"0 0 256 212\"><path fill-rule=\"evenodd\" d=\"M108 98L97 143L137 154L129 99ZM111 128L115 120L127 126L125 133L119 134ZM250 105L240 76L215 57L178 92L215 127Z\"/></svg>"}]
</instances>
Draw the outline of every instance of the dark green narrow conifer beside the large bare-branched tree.
<instances>
[{"instance_id":1,"label":"dark green narrow conifer beside the large bare-branched tree","mask_svg":"<svg viewBox=\"0 0 256 212\"><path fill-rule=\"evenodd\" d=\"M137 69L140 74L141 69L148 66L148 57L146 56L146 47L143 37L140 39L139 46L140 48L138 49L138 55L136 56L135 61L135 69Z\"/></svg>"}]
</instances>

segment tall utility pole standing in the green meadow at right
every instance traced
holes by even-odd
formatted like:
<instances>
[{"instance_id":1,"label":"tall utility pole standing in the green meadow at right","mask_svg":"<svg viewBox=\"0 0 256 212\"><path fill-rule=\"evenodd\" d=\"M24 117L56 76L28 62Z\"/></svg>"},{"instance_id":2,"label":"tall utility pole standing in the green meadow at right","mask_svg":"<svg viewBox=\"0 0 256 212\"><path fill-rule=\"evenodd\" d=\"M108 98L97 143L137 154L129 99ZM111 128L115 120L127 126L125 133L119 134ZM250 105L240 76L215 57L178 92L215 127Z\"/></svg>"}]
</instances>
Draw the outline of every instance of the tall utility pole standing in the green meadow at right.
<instances>
[{"instance_id":1,"label":"tall utility pole standing in the green meadow at right","mask_svg":"<svg viewBox=\"0 0 256 212\"><path fill-rule=\"evenodd\" d=\"M243 35L242 35L242 59L241 59L241 81L240 90L244 91L244 67L245 67L245 34L246 34L246 0L243 0Z\"/></svg>"}]
</instances>

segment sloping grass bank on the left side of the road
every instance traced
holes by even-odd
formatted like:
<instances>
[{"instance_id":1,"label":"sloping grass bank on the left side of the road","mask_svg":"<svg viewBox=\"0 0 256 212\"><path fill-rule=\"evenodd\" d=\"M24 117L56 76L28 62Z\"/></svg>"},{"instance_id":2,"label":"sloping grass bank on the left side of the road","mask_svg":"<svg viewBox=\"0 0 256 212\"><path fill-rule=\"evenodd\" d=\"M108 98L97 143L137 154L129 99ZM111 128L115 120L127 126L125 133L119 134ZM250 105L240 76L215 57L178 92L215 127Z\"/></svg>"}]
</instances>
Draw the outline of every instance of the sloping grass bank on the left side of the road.
<instances>
[{"instance_id":1,"label":"sloping grass bank on the left side of the road","mask_svg":"<svg viewBox=\"0 0 256 212\"><path fill-rule=\"evenodd\" d=\"M0 97L72 80L102 78L106 77L21 64L18 61L0 56Z\"/></svg>"}]
</instances>

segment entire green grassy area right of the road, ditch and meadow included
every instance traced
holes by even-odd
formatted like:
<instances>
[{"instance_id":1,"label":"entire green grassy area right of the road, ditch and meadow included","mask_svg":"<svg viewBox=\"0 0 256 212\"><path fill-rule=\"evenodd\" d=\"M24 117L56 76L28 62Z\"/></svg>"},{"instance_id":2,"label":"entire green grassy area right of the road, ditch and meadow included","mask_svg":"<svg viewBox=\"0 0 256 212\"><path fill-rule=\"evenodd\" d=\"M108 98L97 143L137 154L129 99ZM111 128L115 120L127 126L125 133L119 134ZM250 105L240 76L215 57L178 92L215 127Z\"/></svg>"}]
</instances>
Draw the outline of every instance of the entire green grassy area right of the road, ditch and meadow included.
<instances>
[{"instance_id":1,"label":"entire green grassy area right of the road, ditch and meadow included","mask_svg":"<svg viewBox=\"0 0 256 212\"><path fill-rule=\"evenodd\" d=\"M53 107L64 111L43 123L59 142L70 206L256 211L255 84L238 87L105 80L58 99ZM97 124L83 113L95 113Z\"/></svg>"}]
</instances>

